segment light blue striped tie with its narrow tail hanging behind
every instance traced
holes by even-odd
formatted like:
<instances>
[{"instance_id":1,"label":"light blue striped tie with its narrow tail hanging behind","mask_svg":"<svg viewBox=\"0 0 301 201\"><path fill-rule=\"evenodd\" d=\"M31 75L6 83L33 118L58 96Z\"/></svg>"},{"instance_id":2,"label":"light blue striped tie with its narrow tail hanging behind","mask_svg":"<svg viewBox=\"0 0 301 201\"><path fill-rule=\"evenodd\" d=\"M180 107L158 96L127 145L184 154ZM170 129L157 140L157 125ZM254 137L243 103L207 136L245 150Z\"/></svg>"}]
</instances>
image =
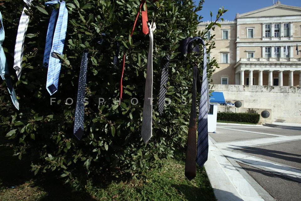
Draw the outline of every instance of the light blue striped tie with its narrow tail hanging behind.
<instances>
[{"instance_id":1,"label":"light blue striped tie with its narrow tail hanging behind","mask_svg":"<svg viewBox=\"0 0 301 201\"><path fill-rule=\"evenodd\" d=\"M61 60L58 55L63 54L68 22L68 11L64 1L50 1L46 2L45 5L52 6L57 3L60 3L60 9L53 9L51 13L43 60L43 65L48 67L46 89L50 95L54 94L58 89L61 70ZM58 17L55 23L57 15Z\"/></svg>"}]
</instances>

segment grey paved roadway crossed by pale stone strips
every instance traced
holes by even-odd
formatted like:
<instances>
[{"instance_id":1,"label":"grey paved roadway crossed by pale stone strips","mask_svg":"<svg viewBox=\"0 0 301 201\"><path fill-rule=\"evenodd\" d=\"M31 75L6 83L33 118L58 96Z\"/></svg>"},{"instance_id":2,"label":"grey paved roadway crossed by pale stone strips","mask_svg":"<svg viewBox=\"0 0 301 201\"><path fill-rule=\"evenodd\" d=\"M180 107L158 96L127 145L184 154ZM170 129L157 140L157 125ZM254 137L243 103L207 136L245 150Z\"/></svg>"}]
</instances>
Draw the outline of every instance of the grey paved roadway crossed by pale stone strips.
<instances>
[{"instance_id":1,"label":"grey paved roadway crossed by pale stone strips","mask_svg":"<svg viewBox=\"0 0 301 201\"><path fill-rule=\"evenodd\" d=\"M249 181L251 185L260 184L277 201L301 200L300 131L218 124L209 136L228 160L237 161L257 182Z\"/></svg>"}]
</instances>

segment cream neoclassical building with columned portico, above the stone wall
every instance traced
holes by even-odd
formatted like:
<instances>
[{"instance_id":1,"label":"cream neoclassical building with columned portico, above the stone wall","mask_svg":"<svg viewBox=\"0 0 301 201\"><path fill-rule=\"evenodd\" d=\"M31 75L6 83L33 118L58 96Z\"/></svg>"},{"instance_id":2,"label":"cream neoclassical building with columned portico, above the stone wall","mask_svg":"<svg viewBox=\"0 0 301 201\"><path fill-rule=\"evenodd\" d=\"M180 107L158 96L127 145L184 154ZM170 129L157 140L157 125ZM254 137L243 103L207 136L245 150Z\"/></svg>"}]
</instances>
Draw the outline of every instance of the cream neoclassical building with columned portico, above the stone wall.
<instances>
[{"instance_id":1,"label":"cream neoclassical building with columned portico, above the stone wall","mask_svg":"<svg viewBox=\"0 0 301 201\"><path fill-rule=\"evenodd\" d=\"M214 84L301 86L301 7L277 1L220 24L208 35L220 67Z\"/></svg>"}]
</instances>

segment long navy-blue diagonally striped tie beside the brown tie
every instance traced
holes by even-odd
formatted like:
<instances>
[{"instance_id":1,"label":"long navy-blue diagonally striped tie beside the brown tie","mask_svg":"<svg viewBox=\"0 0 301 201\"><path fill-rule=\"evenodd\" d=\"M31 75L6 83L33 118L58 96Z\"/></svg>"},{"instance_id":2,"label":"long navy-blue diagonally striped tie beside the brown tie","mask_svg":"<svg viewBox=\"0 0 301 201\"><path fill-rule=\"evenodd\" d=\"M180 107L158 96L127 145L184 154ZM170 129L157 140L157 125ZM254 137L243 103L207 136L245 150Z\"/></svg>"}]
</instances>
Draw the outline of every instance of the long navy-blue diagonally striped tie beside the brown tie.
<instances>
[{"instance_id":1,"label":"long navy-blue diagonally striped tie beside the brown tie","mask_svg":"<svg viewBox=\"0 0 301 201\"><path fill-rule=\"evenodd\" d=\"M207 79L207 51L203 39L203 80L201 86L201 98L198 109L198 145L197 145L197 164L202 167L208 158L208 109L209 109L209 87Z\"/></svg>"}]
</instances>

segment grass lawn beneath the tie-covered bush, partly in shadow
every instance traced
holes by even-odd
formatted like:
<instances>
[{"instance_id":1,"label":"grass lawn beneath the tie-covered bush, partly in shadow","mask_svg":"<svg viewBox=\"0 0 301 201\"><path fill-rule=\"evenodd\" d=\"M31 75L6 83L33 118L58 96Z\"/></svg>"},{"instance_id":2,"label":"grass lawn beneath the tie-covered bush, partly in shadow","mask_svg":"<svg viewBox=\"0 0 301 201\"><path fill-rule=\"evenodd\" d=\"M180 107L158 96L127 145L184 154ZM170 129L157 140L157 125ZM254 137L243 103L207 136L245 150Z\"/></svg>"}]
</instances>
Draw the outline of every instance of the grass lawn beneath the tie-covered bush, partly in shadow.
<instances>
[{"instance_id":1,"label":"grass lawn beneath the tie-covered bush, partly in shadow","mask_svg":"<svg viewBox=\"0 0 301 201\"><path fill-rule=\"evenodd\" d=\"M192 181L185 178L183 156L166 160L162 170L153 169L139 179L89 183L76 191L51 175L34 176L28 162L12 157L8 148L0 147L0 153L0 201L216 200L203 167L197 167Z\"/></svg>"}]
</instances>

